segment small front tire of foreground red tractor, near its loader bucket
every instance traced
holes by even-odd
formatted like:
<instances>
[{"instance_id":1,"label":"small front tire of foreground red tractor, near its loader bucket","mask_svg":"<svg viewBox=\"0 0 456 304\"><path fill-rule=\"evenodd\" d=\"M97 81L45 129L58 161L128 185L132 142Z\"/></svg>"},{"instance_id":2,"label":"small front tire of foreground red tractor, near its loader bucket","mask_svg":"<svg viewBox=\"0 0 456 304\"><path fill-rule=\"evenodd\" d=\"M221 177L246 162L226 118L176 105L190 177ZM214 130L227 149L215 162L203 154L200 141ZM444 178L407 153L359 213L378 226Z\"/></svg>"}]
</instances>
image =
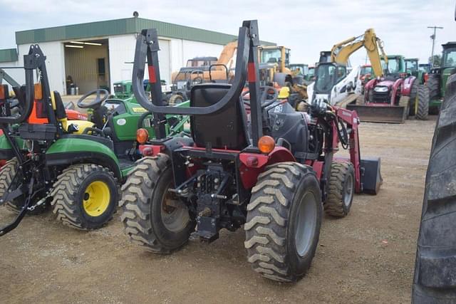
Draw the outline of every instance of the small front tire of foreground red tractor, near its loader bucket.
<instances>
[{"instance_id":1,"label":"small front tire of foreground red tractor, near its loader bucket","mask_svg":"<svg viewBox=\"0 0 456 304\"><path fill-rule=\"evenodd\" d=\"M333 162L328 182L328 196L323 204L326 214L345 217L350 212L355 193L355 170L351 162Z\"/></svg>"}]
</instances>

